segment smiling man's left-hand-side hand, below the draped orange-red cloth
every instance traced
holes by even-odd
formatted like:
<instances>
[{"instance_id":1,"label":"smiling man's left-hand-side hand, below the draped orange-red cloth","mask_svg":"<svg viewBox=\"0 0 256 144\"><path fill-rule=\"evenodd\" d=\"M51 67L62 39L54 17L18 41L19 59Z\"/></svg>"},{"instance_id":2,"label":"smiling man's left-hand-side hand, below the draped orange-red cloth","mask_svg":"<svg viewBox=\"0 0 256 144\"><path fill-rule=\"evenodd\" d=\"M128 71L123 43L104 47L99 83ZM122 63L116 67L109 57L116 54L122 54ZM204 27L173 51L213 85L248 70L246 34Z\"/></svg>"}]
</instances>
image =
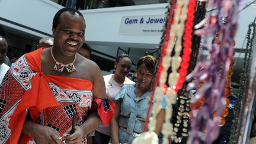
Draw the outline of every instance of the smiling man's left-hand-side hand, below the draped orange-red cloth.
<instances>
[{"instance_id":1,"label":"smiling man's left-hand-side hand, below the draped orange-red cloth","mask_svg":"<svg viewBox=\"0 0 256 144\"><path fill-rule=\"evenodd\" d=\"M62 141L59 139L59 133L52 127L41 126L38 124L37 129L34 130L32 137L37 144L44 143L59 143Z\"/></svg>"}]
</instances>

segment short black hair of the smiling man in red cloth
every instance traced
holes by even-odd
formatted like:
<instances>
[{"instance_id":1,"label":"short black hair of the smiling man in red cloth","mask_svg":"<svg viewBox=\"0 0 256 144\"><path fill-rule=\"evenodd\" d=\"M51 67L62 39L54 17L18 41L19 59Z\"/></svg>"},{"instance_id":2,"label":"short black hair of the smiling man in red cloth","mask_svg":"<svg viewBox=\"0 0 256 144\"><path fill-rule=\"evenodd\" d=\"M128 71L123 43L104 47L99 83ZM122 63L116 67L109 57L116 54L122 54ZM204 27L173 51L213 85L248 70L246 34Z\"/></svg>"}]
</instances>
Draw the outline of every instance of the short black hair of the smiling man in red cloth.
<instances>
[{"instance_id":1,"label":"short black hair of the smiling man in red cloth","mask_svg":"<svg viewBox=\"0 0 256 144\"><path fill-rule=\"evenodd\" d=\"M56 29L57 25L59 24L60 15L63 12L66 12L66 11L68 11L72 15L75 15L77 13L78 15L80 15L84 19L84 16L78 10L73 9L73 8L62 8L59 11L57 11L57 13L55 14L55 17L53 18L53 28Z\"/></svg>"}]
</instances>

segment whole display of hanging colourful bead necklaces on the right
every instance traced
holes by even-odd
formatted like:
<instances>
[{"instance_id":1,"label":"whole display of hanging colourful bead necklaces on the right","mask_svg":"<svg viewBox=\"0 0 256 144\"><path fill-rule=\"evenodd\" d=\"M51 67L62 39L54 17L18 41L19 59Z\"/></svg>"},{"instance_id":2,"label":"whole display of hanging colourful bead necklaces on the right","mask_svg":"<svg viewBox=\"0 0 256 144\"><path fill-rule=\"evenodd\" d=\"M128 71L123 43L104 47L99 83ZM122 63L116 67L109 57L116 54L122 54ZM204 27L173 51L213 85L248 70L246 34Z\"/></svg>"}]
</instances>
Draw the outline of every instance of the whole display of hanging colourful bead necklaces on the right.
<instances>
[{"instance_id":1,"label":"whole display of hanging colourful bead necklaces on the right","mask_svg":"<svg viewBox=\"0 0 256 144\"><path fill-rule=\"evenodd\" d=\"M256 31L256 25L254 23L249 25L244 66L241 68L243 72L239 82L239 94L235 94L237 101L236 103L235 100L232 101L235 103L232 110L230 78L235 54L233 49L235 46L234 37L236 28L238 28L238 21L233 18L238 17L237 9L240 0L233 1L232 4L223 1L225 8L217 1L209 2L210 8L218 7L218 11L208 14L207 18L201 20L200 23L193 22L194 18L199 17L191 17L191 15L204 16L206 4L201 4L199 7L200 3L197 2L196 10L200 10L200 12L194 14L196 2L192 0L189 2L175 0L169 2L168 23L165 24L160 43L161 55L159 55L158 70L151 95L153 98L155 94L156 103L153 106L152 103L149 105L143 130L145 133L136 137L133 143L158 143L157 135L153 131L157 123L156 116L161 109L158 107L157 101L161 100L164 94L167 96L168 106L165 109L165 123L161 131L164 135L163 143L169 143L169 140L174 143L188 144L228 142L228 140L232 144L247 143L254 118L254 105L256 105L254 104L256 94L256 50L254 50L256 48L256 34L254 31ZM189 10L193 12L188 12L186 15L185 12ZM188 16L189 14L190 16ZM220 17L221 15L227 16ZM185 18L188 20L185 21ZM189 30L188 26L191 27ZM183 30L184 28L187 29ZM186 35L188 32L189 34ZM194 39L192 39L193 35L191 36L191 34L199 36L197 50L192 49ZM187 37L181 41L181 36ZM201 44L200 37L204 38ZM210 37L215 38L212 40ZM186 43L186 40L190 43ZM193 42L191 43L191 41ZM197 62L200 46L205 47L209 51L209 55L206 59ZM185 49L186 47L189 50L184 50L181 53L181 48ZM188 56L184 56L186 52L189 53ZM194 53L197 55L191 56ZM195 57L196 59L194 59ZM196 67L194 68L193 65L193 68L190 69L191 63L181 63L187 61L193 61L192 64L197 63ZM188 72L190 74L187 75ZM152 117L149 118L151 106ZM229 110L234 111L234 116L225 118L228 116ZM226 120L229 123L226 123ZM146 132L147 126L149 132ZM220 133L220 127L226 133ZM227 127L228 129L226 129Z\"/></svg>"}]
</instances>

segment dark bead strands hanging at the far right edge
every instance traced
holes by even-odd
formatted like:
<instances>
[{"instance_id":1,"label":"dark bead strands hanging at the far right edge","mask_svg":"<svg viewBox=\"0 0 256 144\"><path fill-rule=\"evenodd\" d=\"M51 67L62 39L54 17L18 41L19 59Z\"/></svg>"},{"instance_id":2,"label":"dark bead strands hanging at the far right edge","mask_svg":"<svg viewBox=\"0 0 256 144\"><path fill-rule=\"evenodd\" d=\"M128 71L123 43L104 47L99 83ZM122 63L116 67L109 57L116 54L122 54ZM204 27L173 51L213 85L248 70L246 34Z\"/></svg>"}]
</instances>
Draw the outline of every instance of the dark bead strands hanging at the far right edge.
<instances>
[{"instance_id":1,"label":"dark bead strands hanging at the far right edge","mask_svg":"<svg viewBox=\"0 0 256 144\"><path fill-rule=\"evenodd\" d=\"M256 84L256 24L248 25L244 64L239 81L239 92L233 91L237 100L233 107L233 121L229 144L248 143L251 134L252 121L255 110L255 84ZM244 41L245 42L245 41ZM243 44L244 45L244 44ZM243 46L244 47L244 46Z\"/></svg>"}]
</instances>

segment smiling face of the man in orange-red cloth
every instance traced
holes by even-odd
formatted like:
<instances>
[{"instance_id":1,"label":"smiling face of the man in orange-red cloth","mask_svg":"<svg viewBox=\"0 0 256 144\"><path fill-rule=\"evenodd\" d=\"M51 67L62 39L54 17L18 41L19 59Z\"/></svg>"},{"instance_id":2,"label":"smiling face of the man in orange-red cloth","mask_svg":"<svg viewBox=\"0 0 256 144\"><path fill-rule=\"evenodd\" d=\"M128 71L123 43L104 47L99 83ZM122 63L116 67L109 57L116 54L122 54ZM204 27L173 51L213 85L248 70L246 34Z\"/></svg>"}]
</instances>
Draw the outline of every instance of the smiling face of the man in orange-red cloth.
<instances>
[{"instance_id":1,"label":"smiling face of the man in orange-red cloth","mask_svg":"<svg viewBox=\"0 0 256 144\"><path fill-rule=\"evenodd\" d=\"M56 29L53 28L53 47L64 56L74 56L85 41L84 33L84 19L78 14L63 12Z\"/></svg>"}]
</instances>

